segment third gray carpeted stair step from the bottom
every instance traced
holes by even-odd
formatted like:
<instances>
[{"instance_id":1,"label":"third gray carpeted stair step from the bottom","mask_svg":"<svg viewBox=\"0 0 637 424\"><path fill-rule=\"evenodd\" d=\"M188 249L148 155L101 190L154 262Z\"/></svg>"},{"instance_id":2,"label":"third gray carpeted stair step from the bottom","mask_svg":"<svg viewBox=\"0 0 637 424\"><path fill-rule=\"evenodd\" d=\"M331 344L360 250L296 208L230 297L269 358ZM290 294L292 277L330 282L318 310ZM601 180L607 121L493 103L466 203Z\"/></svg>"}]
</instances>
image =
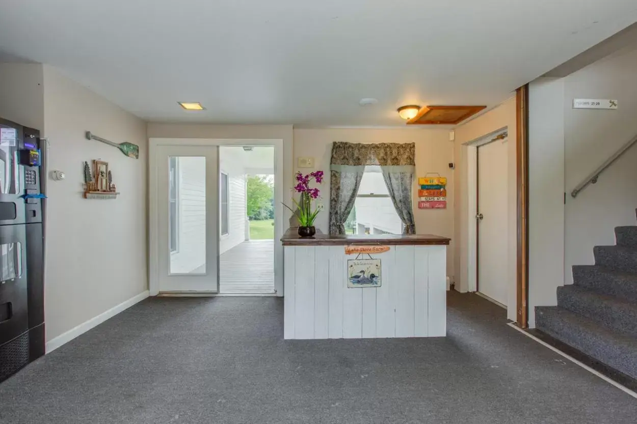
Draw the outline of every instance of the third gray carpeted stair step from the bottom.
<instances>
[{"instance_id":1,"label":"third gray carpeted stair step from the bottom","mask_svg":"<svg viewBox=\"0 0 637 424\"><path fill-rule=\"evenodd\" d=\"M637 274L630 272L613 271L599 265L573 265L573 284L637 302Z\"/></svg>"}]
</instances>

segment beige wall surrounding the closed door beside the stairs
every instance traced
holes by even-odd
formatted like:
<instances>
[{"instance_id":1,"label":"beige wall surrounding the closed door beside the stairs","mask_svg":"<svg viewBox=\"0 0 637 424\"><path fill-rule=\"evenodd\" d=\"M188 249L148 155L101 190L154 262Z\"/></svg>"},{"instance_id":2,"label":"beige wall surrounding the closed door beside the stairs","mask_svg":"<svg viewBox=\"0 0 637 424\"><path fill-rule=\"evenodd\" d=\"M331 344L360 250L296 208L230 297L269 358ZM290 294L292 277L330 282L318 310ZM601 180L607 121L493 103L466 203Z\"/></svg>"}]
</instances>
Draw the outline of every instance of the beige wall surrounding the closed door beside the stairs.
<instances>
[{"instance_id":1,"label":"beige wall surrounding the closed door beside the stairs","mask_svg":"<svg viewBox=\"0 0 637 424\"><path fill-rule=\"evenodd\" d=\"M467 187L467 143L480 139L487 134L500 129L508 129L508 179L507 187L507 247L508 257L505 261L508 275L508 318L515 320L515 272L516 272L516 220L517 220L517 195L515 176L515 97L504 102L494 110L475 118L455 129L454 155L456 161L455 175L455 262L454 274L456 275L455 288L461 292L468 290L468 245L469 229L466 216L468 216L468 187ZM472 241L472 243L474 243Z\"/></svg>"}]
</instances>

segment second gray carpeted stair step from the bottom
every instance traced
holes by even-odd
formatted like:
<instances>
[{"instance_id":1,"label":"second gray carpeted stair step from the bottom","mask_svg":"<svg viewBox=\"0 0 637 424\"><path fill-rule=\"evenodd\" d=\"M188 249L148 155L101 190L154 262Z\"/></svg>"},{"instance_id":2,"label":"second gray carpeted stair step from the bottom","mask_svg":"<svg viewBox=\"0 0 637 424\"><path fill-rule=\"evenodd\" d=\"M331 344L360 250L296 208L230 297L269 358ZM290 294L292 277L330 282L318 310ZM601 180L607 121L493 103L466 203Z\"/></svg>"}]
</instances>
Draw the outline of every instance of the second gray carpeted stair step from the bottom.
<instances>
[{"instance_id":1,"label":"second gray carpeted stair step from the bottom","mask_svg":"<svg viewBox=\"0 0 637 424\"><path fill-rule=\"evenodd\" d=\"M557 288L557 305L609 329L637 337L637 303L568 285Z\"/></svg>"}]
</instances>

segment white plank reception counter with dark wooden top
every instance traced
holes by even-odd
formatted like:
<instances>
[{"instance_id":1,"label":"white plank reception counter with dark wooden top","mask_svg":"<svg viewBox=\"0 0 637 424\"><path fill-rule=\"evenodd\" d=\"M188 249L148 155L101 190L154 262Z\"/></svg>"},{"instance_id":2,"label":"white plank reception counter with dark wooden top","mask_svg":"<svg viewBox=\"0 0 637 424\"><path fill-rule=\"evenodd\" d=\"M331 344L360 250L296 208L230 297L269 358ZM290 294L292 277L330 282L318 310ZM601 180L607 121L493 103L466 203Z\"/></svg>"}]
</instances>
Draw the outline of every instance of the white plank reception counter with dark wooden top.
<instances>
[{"instance_id":1,"label":"white plank reception counter with dark wooden top","mask_svg":"<svg viewBox=\"0 0 637 424\"><path fill-rule=\"evenodd\" d=\"M285 339L445 336L450 239L289 229L281 241Z\"/></svg>"}]
</instances>

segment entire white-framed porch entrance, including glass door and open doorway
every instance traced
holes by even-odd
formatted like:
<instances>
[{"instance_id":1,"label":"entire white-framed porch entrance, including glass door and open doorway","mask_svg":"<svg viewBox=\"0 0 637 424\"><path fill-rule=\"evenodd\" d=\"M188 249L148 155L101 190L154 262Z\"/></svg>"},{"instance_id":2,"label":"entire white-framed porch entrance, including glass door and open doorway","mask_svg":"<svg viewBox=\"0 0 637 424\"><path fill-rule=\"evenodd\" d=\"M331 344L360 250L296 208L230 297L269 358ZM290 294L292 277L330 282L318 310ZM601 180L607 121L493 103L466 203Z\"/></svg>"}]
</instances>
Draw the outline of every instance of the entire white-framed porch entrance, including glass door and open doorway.
<instances>
[{"instance_id":1,"label":"entire white-framed porch entrance, including glass door and open doorway","mask_svg":"<svg viewBox=\"0 0 637 424\"><path fill-rule=\"evenodd\" d=\"M282 295L285 151L282 139L149 140L150 295ZM253 182L268 194L250 220Z\"/></svg>"}]
</instances>

